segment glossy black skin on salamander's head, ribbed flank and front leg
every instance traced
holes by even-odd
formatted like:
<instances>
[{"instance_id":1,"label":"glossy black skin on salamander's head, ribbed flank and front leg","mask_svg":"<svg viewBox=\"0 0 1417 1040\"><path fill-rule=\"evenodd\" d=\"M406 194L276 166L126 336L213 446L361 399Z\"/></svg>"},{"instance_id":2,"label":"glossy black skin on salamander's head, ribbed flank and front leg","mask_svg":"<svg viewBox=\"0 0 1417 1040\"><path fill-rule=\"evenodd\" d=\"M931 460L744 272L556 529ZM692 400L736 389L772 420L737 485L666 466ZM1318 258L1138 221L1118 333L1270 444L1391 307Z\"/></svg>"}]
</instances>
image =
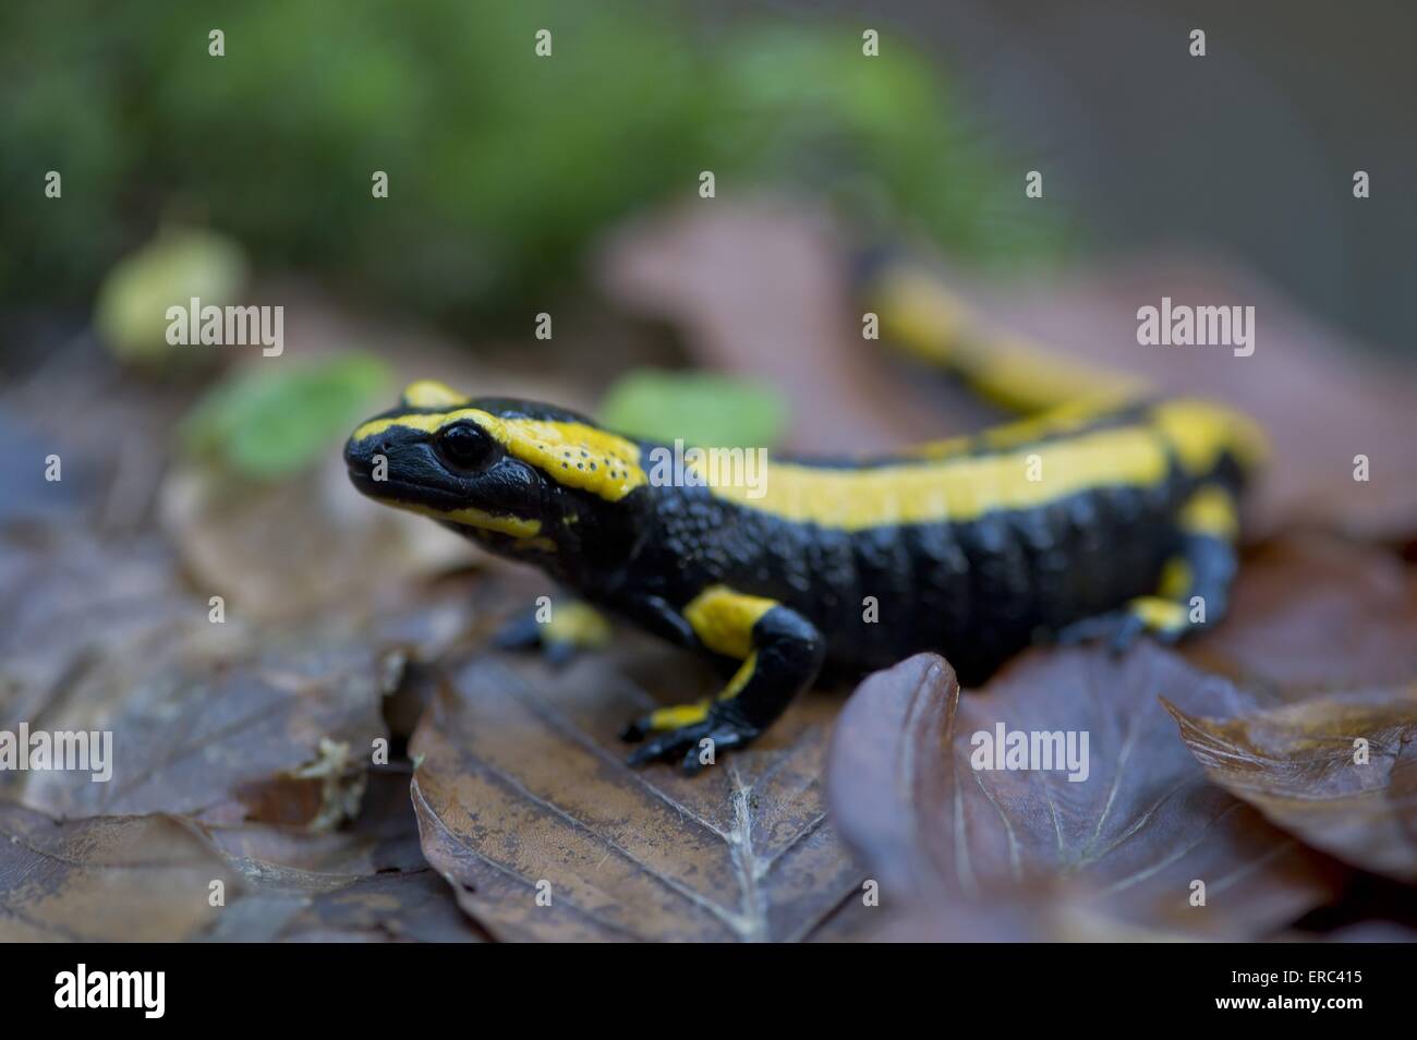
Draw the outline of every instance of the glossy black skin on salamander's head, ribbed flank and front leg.
<instances>
[{"instance_id":1,"label":"glossy black skin on salamander's head, ribbed flank and front leg","mask_svg":"<svg viewBox=\"0 0 1417 1040\"><path fill-rule=\"evenodd\" d=\"M526 401L482 398L469 407L592 425ZM411 411L418 409L388 415ZM653 446L642 448L646 470ZM387 482L370 477L376 453L388 459ZM706 588L727 585L779 604L752 629L758 667L737 697L716 703L703 723L670 733L650 737L645 720L626 727L628 740L650 737L632 762L682 755L690 771L699 765L700 740L714 740L718 750L750 742L823 665L860 672L938 650L962 683L978 684L1043 638L1102 638L1125 648L1141 625L1115 608L1152 594L1172 555L1190 564L1193 591L1207 598L1207 623L1223 615L1234 572L1231 546L1178 529L1178 511L1199 486L1179 465L1145 489L1098 487L971 523L840 531L738 506L706 487L643 485L606 502L506 455L476 431L436 441L393 426L371 442L351 442L346 462L354 485L380 500L540 520L554 551L529 551L510 536L466 524L446 526L703 653L708 650L682 611ZM1206 482L1238 490L1238 475L1224 459ZM876 623L863 619L866 597L879 604Z\"/></svg>"}]
</instances>

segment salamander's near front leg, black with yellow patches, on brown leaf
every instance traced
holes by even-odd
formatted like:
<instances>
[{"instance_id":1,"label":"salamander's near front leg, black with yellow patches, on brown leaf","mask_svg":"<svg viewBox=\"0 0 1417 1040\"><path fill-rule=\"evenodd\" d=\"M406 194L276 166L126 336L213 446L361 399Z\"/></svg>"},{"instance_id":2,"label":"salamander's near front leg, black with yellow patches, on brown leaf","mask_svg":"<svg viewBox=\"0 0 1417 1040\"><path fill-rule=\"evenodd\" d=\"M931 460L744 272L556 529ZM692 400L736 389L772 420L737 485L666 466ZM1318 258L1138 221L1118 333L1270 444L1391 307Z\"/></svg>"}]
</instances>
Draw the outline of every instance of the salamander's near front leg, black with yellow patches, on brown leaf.
<instances>
[{"instance_id":1,"label":"salamander's near front leg, black with yellow patches, on brown leaf","mask_svg":"<svg viewBox=\"0 0 1417 1040\"><path fill-rule=\"evenodd\" d=\"M631 723L622 737L645 741L631 754L631 765L682 755L684 772L699 772L713 761L706 751L717 755L747 745L822 667L822 635L801 614L772 599L717 585L683 614L706 649L743 663L713 700L657 708Z\"/></svg>"}]
</instances>

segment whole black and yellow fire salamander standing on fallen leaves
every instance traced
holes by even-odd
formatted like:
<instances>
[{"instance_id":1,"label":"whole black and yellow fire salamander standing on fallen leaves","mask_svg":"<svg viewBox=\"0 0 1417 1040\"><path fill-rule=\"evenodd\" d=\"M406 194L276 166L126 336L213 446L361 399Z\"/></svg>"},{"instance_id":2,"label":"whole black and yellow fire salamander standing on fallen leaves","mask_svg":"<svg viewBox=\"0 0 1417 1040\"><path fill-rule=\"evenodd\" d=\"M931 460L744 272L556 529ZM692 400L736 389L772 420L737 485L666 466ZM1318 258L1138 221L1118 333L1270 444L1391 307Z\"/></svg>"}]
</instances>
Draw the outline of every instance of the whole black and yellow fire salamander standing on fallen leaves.
<instances>
[{"instance_id":1,"label":"whole black and yellow fire salamander standing on fallen leaves","mask_svg":"<svg viewBox=\"0 0 1417 1040\"><path fill-rule=\"evenodd\" d=\"M823 665L942 652L965 684L1040 638L1172 640L1226 612L1244 417L990 333L937 279L881 262L887 340L1016 421L887 458L768 463L761 494L663 485L642 443L561 408L415 383L344 458L366 494L534 564L726 667L711 700L632 721L632 764L758 737Z\"/></svg>"}]
</instances>

